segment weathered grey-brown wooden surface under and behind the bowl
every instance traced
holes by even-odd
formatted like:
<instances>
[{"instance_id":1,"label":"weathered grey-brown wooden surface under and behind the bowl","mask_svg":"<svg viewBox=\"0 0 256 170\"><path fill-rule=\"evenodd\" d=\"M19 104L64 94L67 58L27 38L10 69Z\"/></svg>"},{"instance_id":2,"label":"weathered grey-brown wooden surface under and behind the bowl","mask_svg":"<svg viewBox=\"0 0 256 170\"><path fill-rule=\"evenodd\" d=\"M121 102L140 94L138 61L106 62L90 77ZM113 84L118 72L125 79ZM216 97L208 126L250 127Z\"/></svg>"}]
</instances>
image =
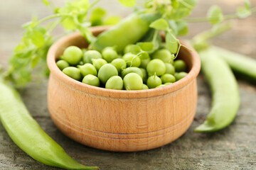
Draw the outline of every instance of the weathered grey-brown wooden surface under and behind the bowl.
<instances>
[{"instance_id":1,"label":"weathered grey-brown wooden surface under and behind the bowl","mask_svg":"<svg viewBox=\"0 0 256 170\"><path fill-rule=\"evenodd\" d=\"M112 13L129 13L117 8L112 1L102 1L114 8ZM55 1L61 4L61 1ZM193 16L205 15L213 1L199 1ZM225 13L235 11L240 0L218 0ZM28 21L32 13L44 16L49 13L40 7L40 1L0 1L0 64L6 67L21 38L21 24ZM255 5L255 4L254 4ZM114 6L114 7L113 7ZM233 30L214 38L213 43L256 59L256 15L236 21ZM205 23L191 24L191 37L209 28ZM43 130L58 142L71 157L82 164L97 165L101 169L256 169L256 86L239 80L241 106L234 123L225 130L212 134L197 134L193 128L203 122L210 109L210 91L202 75L198 77L198 108L196 118L188 132L180 139L164 147L146 152L117 153L92 149L65 137L53 124L46 104L48 81L30 84L23 92L23 100ZM1 94L0 94L1 95ZM55 169L28 157L11 141L0 125L0 169Z\"/></svg>"}]
</instances>

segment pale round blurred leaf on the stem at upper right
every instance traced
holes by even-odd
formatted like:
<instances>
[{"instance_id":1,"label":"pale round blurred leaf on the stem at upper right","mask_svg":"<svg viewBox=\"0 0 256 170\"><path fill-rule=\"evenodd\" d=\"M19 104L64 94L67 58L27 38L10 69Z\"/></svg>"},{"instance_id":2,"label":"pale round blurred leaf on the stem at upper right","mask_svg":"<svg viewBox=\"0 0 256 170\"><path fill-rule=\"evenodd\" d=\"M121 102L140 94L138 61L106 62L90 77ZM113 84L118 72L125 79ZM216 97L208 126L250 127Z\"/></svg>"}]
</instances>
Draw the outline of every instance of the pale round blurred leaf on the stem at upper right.
<instances>
[{"instance_id":1,"label":"pale round blurred leaf on the stem at upper right","mask_svg":"<svg viewBox=\"0 0 256 170\"><path fill-rule=\"evenodd\" d=\"M211 6L207 13L207 18L211 24L217 24L223 21L223 13L219 6Z\"/></svg>"}]
</instances>

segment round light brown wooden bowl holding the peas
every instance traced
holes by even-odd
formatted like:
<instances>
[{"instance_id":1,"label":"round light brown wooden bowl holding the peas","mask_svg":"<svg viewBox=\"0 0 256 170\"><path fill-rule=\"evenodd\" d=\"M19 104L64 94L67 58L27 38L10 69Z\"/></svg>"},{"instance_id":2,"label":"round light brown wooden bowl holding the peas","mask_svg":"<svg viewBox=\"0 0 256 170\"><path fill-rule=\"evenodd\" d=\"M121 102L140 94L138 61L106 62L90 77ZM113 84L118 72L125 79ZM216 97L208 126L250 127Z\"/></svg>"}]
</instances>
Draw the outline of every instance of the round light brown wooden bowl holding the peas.
<instances>
[{"instance_id":1,"label":"round light brown wooden bowl holding the peas","mask_svg":"<svg viewBox=\"0 0 256 170\"><path fill-rule=\"evenodd\" d=\"M92 28L92 33L106 29ZM87 47L87 42L73 33L55 42L47 58L48 109L65 135L97 149L134 152L166 145L188 130L196 113L201 67L195 50L181 48L178 55L189 68L183 79L159 89L124 91L89 86L63 74L55 61L70 45Z\"/></svg>"}]
</instances>

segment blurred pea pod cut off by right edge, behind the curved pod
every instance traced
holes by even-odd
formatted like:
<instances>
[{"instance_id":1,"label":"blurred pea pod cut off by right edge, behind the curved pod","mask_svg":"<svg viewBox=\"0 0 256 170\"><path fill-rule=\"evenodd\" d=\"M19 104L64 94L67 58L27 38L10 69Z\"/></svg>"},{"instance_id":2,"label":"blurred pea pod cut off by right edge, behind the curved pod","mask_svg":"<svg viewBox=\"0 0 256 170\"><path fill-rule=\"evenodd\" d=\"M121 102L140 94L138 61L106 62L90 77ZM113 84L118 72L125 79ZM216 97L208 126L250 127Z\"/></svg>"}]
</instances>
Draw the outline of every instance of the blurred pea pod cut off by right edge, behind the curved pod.
<instances>
[{"instance_id":1,"label":"blurred pea pod cut off by right edge, behind the curved pod","mask_svg":"<svg viewBox=\"0 0 256 170\"><path fill-rule=\"evenodd\" d=\"M229 64L235 74L256 83L256 60L220 47L213 47L213 49Z\"/></svg>"}]
</instances>

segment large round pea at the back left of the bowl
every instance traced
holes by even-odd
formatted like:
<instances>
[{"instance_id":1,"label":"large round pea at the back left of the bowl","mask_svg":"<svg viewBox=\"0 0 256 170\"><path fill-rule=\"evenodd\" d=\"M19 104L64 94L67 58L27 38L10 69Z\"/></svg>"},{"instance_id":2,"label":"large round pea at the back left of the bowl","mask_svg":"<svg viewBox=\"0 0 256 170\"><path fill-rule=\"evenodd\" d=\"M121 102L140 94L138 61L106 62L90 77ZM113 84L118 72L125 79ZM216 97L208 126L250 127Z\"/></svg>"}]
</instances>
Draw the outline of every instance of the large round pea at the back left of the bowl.
<instances>
[{"instance_id":1,"label":"large round pea at the back left of the bowl","mask_svg":"<svg viewBox=\"0 0 256 170\"><path fill-rule=\"evenodd\" d=\"M61 58L71 65L76 65L82 59L82 50L75 46L67 47L63 52L63 57Z\"/></svg>"}]
</instances>

